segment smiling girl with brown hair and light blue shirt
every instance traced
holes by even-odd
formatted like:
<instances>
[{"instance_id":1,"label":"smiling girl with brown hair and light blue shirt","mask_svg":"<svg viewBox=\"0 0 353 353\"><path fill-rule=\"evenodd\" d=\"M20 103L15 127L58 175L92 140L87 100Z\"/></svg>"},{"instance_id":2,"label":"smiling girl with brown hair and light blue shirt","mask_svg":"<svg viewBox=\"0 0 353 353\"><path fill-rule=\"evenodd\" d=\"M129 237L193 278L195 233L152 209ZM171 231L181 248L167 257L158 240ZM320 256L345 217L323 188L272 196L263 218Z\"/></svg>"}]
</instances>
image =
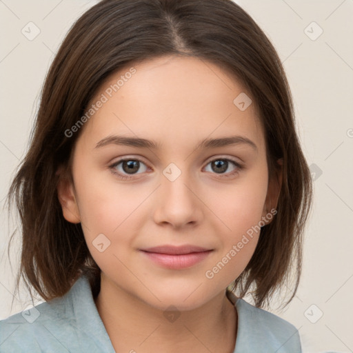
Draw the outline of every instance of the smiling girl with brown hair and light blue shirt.
<instances>
[{"instance_id":1,"label":"smiling girl with brown hair and light blue shirt","mask_svg":"<svg viewBox=\"0 0 353 353\"><path fill-rule=\"evenodd\" d=\"M0 321L1 352L301 352L263 307L298 287L310 172L281 61L232 1L85 12L11 200L17 288L46 302Z\"/></svg>"}]
</instances>

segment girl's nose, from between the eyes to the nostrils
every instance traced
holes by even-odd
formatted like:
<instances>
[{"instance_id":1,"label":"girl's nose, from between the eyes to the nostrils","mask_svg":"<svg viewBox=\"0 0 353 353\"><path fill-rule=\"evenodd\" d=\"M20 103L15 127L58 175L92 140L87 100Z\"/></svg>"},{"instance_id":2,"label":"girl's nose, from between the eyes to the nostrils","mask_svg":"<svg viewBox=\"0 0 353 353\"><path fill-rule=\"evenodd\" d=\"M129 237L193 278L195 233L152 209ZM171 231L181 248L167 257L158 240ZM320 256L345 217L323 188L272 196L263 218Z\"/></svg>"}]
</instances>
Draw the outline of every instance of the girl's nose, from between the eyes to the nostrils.
<instances>
[{"instance_id":1,"label":"girl's nose, from between the eyes to the nostrils","mask_svg":"<svg viewBox=\"0 0 353 353\"><path fill-rule=\"evenodd\" d=\"M161 175L154 206L154 221L159 225L183 228L199 224L203 219L199 188L191 182L187 172L180 172L177 179L170 178L167 172Z\"/></svg>"}]
</instances>

